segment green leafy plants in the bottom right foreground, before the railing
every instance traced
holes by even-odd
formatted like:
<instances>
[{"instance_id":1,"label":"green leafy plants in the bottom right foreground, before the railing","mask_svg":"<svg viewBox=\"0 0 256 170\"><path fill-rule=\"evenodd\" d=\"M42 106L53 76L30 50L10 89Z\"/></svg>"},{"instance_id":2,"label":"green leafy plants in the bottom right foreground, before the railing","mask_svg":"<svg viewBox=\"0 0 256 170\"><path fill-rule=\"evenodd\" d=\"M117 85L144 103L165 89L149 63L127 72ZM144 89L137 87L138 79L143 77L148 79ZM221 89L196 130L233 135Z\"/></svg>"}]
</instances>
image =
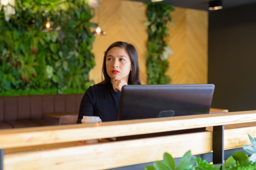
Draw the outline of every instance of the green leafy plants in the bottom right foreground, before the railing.
<instances>
[{"instance_id":1,"label":"green leafy plants in the bottom right foreground, before the railing","mask_svg":"<svg viewBox=\"0 0 256 170\"><path fill-rule=\"evenodd\" d=\"M252 146L245 145L243 149L252 155L248 156L241 151L235 152L228 157L223 166L210 164L200 157L195 157L189 150L177 165L169 153L164 153L163 161L155 161L153 166L145 166L144 170L256 170L256 138L249 134L248 136Z\"/></svg>"}]
</instances>

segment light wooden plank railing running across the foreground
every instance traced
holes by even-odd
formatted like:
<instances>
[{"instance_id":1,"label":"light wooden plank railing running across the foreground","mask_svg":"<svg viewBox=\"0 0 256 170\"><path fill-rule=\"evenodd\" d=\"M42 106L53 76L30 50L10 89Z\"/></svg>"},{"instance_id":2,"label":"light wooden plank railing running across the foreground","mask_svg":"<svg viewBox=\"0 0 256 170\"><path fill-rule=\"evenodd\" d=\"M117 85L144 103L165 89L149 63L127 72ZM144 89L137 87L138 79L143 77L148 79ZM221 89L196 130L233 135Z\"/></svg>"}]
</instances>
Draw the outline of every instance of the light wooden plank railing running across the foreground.
<instances>
[{"instance_id":1,"label":"light wooden plank railing running across the foreground","mask_svg":"<svg viewBox=\"0 0 256 170\"><path fill-rule=\"evenodd\" d=\"M0 131L0 159L3 170L106 170L162 160L164 152L179 158L186 151L191 150L193 155L213 152L213 163L220 163L225 159L224 150L250 144L247 134L256 135L255 124L256 111L239 111L6 129ZM209 126L213 126L214 132L205 131L117 142L106 139ZM102 141L94 144L79 142L95 138L102 138Z\"/></svg>"}]
</instances>

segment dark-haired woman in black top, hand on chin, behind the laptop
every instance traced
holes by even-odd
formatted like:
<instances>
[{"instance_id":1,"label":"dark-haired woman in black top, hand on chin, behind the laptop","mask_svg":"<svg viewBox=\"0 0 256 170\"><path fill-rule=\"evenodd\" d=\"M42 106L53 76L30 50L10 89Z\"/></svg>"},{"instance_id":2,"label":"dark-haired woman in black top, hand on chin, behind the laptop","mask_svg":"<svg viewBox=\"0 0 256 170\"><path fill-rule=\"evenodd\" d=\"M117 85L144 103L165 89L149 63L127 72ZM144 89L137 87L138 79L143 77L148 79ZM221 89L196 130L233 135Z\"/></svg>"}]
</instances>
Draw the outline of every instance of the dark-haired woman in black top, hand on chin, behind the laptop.
<instances>
[{"instance_id":1,"label":"dark-haired woman in black top, hand on chin, behind the laptop","mask_svg":"<svg viewBox=\"0 0 256 170\"><path fill-rule=\"evenodd\" d=\"M86 90L76 123L83 116L99 116L103 122L117 120L122 87L141 84L135 47L121 41L111 44L105 51L102 73L104 80Z\"/></svg>"}]
</instances>

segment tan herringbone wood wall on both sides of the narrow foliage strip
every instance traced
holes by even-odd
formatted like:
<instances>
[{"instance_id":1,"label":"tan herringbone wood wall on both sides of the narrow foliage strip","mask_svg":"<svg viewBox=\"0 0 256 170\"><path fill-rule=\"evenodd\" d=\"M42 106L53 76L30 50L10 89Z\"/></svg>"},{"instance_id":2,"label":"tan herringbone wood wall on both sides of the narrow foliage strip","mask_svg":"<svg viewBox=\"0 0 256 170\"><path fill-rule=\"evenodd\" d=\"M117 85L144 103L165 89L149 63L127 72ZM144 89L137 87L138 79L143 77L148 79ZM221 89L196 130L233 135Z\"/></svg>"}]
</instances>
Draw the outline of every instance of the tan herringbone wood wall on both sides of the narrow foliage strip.
<instances>
[{"instance_id":1,"label":"tan herringbone wood wall on both sides of the narrow foliage strip","mask_svg":"<svg viewBox=\"0 0 256 170\"><path fill-rule=\"evenodd\" d=\"M90 79L95 83L101 81L103 55L108 46L115 41L127 41L138 50L141 82L146 84L146 5L128 0L100 0L100 4L99 22L107 34L95 38L92 52L96 66ZM168 45L174 54L169 56L166 74L172 78L172 84L207 83L207 11L175 7L171 16L174 24L170 26ZM91 21L98 22L97 15Z\"/></svg>"}]
</instances>

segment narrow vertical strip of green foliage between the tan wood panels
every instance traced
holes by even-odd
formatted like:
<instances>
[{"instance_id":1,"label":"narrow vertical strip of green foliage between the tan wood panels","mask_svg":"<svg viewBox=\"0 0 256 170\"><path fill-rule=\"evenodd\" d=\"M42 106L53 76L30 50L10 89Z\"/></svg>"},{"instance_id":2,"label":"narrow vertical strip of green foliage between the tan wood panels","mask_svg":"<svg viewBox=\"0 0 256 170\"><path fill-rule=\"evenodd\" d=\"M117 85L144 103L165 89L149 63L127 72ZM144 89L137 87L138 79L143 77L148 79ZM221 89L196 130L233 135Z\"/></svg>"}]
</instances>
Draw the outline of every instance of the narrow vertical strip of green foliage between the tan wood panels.
<instances>
[{"instance_id":1,"label":"narrow vertical strip of green foliage between the tan wood panels","mask_svg":"<svg viewBox=\"0 0 256 170\"><path fill-rule=\"evenodd\" d=\"M148 51L146 53L148 84L167 84L171 78L165 75L168 69L168 55L172 54L168 47L168 25L172 24L170 12L174 11L171 4L147 2Z\"/></svg>"}]
</instances>

